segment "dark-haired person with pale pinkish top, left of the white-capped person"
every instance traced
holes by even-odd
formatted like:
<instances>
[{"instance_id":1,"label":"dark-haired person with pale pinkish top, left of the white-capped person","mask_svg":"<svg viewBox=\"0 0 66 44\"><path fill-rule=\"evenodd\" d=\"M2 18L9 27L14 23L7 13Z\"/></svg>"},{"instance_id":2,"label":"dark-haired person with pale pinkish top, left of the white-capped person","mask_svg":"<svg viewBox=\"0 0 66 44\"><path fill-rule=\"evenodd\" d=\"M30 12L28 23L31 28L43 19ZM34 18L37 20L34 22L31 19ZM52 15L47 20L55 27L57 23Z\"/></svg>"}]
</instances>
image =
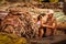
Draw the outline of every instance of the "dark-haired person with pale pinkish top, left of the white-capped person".
<instances>
[{"instance_id":1,"label":"dark-haired person with pale pinkish top, left of the white-capped person","mask_svg":"<svg viewBox=\"0 0 66 44\"><path fill-rule=\"evenodd\" d=\"M37 16L37 25L38 25L38 36L40 36L40 38L42 38L43 34L44 34L44 29L43 29L43 25L42 25L43 16L45 16L44 13L42 13L42 14L40 14Z\"/></svg>"}]
</instances>

